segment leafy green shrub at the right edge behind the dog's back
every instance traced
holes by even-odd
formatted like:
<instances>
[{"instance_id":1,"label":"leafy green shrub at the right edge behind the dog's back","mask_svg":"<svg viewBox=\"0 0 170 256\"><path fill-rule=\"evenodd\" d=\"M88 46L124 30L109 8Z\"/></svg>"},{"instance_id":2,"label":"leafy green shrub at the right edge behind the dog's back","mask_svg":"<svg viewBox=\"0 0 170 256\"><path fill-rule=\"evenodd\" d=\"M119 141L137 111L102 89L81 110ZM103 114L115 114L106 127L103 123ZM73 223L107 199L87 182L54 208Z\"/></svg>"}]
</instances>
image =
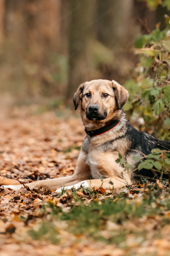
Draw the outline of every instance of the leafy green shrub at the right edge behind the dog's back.
<instances>
[{"instance_id":1,"label":"leafy green shrub at the right edge behind the dog's back","mask_svg":"<svg viewBox=\"0 0 170 256\"><path fill-rule=\"evenodd\" d=\"M149 35L137 38L135 51L139 63L133 79L125 83L129 102L125 105L130 115L143 117L145 131L160 139L170 135L170 17L165 15L166 27L159 24Z\"/></svg>"}]
</instances>

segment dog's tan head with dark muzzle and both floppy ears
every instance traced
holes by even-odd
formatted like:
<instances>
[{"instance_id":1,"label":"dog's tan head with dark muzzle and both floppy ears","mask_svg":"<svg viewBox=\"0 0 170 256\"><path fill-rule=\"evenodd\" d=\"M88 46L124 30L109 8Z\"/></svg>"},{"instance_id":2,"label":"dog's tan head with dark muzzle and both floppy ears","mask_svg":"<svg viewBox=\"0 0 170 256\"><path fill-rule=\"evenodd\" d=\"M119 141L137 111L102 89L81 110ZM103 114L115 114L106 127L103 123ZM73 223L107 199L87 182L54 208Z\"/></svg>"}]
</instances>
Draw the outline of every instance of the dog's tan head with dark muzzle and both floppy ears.
<instances>
[{"instance_id":1,"label":"dog's tan head with dark muzzle and both floppy ears","mask_svg":"<svg viewBox=\"0 0 170 256\"><path fill-rule=\"evenodd\" d=\"M128 96L128 91L118 82L100 79L81 84L74 94L73 102L75 109L81 102L83 121L86 118L107 123L117 118L115 112L122 109Z\"/></svg>"}]
</instances>

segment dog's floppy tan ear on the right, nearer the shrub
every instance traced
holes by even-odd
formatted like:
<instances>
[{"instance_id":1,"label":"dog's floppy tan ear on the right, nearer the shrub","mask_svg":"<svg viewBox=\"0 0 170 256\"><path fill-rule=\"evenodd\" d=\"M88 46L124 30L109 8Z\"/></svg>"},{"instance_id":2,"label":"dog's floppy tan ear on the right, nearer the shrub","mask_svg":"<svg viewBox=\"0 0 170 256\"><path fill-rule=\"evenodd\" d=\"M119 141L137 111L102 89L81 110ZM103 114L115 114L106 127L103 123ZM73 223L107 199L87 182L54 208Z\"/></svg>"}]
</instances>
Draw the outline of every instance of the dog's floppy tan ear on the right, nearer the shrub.
<instances>
[{"instance_id":1,"label":"dog's floppy tan ear on the right, nearer the shrub","mask_svg":"<svg viewBox=\"0 0 170 256\"><path fill-rule=\"evenodd\" d=\"M118 84L118 82L112 80L112 87L114 90L114 96L117 101L117 105L119 109L122 109L122 106L125 105L126 101L128 100L129 93L123 86Z\"/></svg>"}]
</instances>

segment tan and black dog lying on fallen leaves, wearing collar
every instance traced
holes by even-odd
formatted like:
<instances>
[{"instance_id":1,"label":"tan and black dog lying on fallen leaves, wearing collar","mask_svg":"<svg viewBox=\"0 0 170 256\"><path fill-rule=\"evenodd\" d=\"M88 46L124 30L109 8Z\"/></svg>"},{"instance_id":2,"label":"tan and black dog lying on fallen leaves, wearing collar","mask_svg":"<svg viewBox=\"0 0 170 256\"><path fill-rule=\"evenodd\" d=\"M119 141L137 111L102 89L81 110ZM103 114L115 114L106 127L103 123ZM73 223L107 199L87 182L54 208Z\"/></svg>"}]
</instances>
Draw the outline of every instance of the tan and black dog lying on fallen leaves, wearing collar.
<instances>
[{"instance_id":1,"label":"tan and black dog lying on fallen leaves, wearing collar","mask_svg":"<svg viewBox=\"0 0 170 256\"><path fill-rule=\"evenodd\" d=\"M75 110L80 105L80 115L87 133L83 141L76 170L73 175L33 181L25 184L29 189L70 189L81 185L90 188L119 189L135 181L135 173L117 163L122 159L137 169L139 162L134 156L150 154L153 148L170 150L170 142L160 141L149 134L136 130L129 124L123 106L129 93L118 82L112 80L92 80L80 84L73 97ZM153 174L142 170L141 176ZM7 186L4 186L7 187ZM19 189L23 185L12 185Z\"/></svg>"}]
</instances>

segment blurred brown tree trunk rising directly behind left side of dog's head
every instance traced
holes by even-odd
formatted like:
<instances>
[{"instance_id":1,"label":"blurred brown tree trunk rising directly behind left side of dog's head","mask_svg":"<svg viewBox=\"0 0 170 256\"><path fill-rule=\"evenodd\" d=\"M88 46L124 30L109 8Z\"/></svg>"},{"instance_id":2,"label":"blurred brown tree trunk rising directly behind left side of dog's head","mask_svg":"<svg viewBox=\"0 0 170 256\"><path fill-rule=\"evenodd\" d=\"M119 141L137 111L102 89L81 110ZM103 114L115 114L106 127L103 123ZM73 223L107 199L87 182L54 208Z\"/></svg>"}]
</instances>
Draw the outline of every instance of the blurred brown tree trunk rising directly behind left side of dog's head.
<instances>
[{"instance_id":1,"label":"blurred brown tree trunk rising directly behind left side of dog's head","mask_svg":"<svg viewBox=\"0 0 170 256\"><path fill-rule=\"evenodd\" d=\"M92 37L94 0L70 0L69 74L67 99L73 98L81 82L91 78L89 45Z\"/></svg>"}]
</instances>

